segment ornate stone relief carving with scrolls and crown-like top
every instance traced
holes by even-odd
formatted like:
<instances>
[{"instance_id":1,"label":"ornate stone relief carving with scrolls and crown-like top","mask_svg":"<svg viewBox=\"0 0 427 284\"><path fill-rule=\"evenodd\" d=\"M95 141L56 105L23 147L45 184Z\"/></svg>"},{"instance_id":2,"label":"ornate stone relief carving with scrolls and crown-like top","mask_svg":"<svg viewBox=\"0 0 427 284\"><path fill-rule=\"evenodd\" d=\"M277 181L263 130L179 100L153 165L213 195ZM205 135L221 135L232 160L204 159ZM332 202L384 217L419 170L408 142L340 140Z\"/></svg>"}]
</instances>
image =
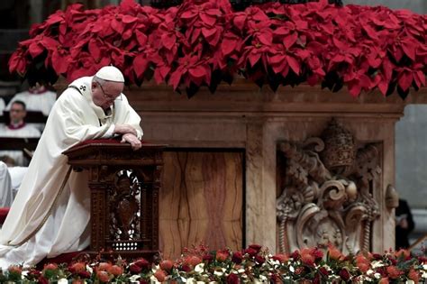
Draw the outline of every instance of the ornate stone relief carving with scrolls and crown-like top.
<instances>
[{"instance_id":1,"label":"ornate stone relief carving with scrolls and crown-like top","mask_svg":"<svg viewBox=\"0 0 427 284\"><path fill-rule=\"evenodd\" d=\"M357 145L335 120L321 137L280 142L284 160L277 198L278 248L332 243L344 253L368 251L370 228L379 215L372 197L380 185L380 150L375 143Z\"/></svg>"}]
</instances>

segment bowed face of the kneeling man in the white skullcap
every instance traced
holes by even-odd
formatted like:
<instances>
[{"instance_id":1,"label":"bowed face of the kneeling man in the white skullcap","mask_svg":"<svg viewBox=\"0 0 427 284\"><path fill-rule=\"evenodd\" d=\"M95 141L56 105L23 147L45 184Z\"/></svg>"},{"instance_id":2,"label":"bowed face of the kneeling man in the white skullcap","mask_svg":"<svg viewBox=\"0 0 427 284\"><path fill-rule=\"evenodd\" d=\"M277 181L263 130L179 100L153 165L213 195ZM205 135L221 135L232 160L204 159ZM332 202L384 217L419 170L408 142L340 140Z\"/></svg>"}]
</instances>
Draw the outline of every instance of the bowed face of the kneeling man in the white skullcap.
<instances>
[{"instance_id":1,"label":"bowed face of the kneeling man in the white skullcap","mask_svg":"<svg viewBox=\"0 0 427 284\"><path fill-rule=\"evenodd\" d=\"M102 86L98 82L92 83L92 100L95 105L107 109L114 104L114 100L123 92L123 83L106 81Z\"/></svg>"}]
</instances>

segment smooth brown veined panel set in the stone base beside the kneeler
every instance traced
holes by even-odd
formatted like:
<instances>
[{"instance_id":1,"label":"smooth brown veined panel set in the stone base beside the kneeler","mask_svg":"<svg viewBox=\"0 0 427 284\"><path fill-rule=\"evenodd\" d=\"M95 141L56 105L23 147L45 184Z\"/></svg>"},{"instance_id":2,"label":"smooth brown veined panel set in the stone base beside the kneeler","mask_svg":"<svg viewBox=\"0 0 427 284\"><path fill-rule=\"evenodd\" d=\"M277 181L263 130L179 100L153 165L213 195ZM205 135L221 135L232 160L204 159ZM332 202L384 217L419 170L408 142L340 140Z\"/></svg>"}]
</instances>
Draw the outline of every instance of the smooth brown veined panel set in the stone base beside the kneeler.
<instances>
[{"instance_id":1,"label":"smooth brown veined panel set in the stone base beside the kneeler","mask_svg":"<svg viewBox=\"0 0 427 284\"><path fill-rule=\"evenodd\" d=\"M183 247L241 249L243 152L167 151L159 201L160 251Z\"/></svg>"}]
</instances>

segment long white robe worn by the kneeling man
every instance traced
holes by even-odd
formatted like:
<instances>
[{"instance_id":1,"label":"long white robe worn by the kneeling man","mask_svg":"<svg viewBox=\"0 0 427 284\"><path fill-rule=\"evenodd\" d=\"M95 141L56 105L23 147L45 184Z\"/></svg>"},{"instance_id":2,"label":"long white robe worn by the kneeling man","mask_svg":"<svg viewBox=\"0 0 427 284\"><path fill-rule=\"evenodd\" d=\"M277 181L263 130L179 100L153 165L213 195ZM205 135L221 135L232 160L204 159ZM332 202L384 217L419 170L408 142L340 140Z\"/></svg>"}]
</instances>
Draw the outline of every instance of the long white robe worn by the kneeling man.
<instances>
[{"instance_id":1,"label":"long white robe worn by the kneeling man","mask_svg":"<svg viewBox=\"0 0 427 284\"><path fill-rule=\"evenodd\" d=\"M86 171L71 172L56 204L55 197L66 178L68 158L61 153L89 139L111 137L114 124L131 124L141 138L140 116L126 96L114 101L113 115L104 115L91 96L92 78L80 78L59 96L34 153L21 188L0 231L0 267L33 265L44 257L84 250L90 243L90 195ZM51 208L50 214L49 210ZM49 218L41 226L45 215ZM32 234L37 231L36 234ZM29 236L30 240L20 244Z\"/></svg>"}]
</instances>

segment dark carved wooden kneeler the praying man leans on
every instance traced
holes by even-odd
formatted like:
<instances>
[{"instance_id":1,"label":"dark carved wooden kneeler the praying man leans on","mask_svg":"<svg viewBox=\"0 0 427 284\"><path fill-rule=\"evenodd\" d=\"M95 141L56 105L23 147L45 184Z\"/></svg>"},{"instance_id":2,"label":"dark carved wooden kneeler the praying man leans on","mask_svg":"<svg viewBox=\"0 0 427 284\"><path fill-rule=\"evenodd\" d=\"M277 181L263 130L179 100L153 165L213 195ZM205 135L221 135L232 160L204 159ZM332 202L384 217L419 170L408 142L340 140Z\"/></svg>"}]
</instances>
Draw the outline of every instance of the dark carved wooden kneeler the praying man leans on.
<instances>
[{"instance_id":1,"label":"dark carved wooden kneeler the praying man leans on","mask_svg":"<svg viewBox=\"0 0 427 284\"><path fill-rule=\"evenodd\" d=\"M64 151L74 170L88 170L90 254L152 259L159 252L159 189L164 145L90 141Z\"/></svg>"}]
</instances>

